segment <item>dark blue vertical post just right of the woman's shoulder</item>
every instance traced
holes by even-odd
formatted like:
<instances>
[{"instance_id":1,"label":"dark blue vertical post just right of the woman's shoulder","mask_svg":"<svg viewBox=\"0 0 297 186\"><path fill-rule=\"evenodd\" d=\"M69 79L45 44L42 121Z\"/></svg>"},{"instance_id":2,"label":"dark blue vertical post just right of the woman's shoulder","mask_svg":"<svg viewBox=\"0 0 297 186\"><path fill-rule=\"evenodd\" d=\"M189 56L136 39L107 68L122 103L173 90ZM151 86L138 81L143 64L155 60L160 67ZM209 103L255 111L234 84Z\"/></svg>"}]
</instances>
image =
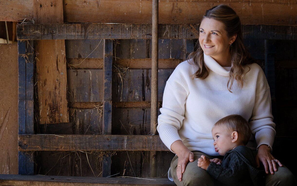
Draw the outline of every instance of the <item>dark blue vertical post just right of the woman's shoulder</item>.
<instances>
[{"instance_id":1,"label":"dark blue vertical post just right of the woman's shoulder","mask_svg":"<svg viewBox=\"0 0 297 186\"><path fill-rule=\"evenodd\" d=\"M274 40L265 39L265 76L268 81L271 95L272 114L276 113L275 100L275 67L274 56L276 53Z\"/></svg>"}]
</instances>

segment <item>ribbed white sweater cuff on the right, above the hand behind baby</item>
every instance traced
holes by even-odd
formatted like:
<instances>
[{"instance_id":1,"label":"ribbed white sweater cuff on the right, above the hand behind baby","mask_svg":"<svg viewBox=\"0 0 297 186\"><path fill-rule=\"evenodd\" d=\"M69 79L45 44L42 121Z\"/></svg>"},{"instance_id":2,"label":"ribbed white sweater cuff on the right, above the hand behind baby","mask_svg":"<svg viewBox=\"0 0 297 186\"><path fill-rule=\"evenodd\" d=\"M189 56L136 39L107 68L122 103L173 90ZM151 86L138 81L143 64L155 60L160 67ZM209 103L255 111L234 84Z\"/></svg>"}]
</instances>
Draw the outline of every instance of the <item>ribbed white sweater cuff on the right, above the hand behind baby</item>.
<instances>
[{"instance_id":1,"label":"ribbed white sweater cuff on the right, above the hand behind baby","mask_svg":"<svg viewBox=\"0 0 297 186\"><path fill-rule=\"evenodd\" d=\"M257 131L255 135L255 138L257 141L257 150L260 145L267 144L270 146L271 152L272 152L274 136L275 136L275 132L271 128L263 128L260 131Z\"/></svg>"}]
</instances>

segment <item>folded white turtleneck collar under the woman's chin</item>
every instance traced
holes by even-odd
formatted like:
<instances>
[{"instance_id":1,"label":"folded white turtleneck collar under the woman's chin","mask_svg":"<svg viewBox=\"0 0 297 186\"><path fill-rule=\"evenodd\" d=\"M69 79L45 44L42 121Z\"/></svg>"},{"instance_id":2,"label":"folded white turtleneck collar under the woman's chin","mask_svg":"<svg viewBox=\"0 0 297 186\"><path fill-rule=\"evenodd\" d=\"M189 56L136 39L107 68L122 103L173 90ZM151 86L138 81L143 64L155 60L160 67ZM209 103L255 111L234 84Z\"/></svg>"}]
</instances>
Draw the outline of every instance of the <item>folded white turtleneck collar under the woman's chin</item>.
<instances>
[{"instance_id":1,"label":"folded white turtleneck collar under the woman's chin","mask_svg":"<svg viewBox=\"0 0 297 186\"><path fill-rule=\"evenodd\" d=\"M226 68L227 70L229 70L227 71L219 63L217 63L217 61L214 60L214 58L212 58L210 55L206 55L205 53L203 53L203 57L204 57L204 63L209 69L211 69L215 73L220 74L222 76L229 76L230 69L232 66L229 68Z\"/></svg>"}]
</instances>

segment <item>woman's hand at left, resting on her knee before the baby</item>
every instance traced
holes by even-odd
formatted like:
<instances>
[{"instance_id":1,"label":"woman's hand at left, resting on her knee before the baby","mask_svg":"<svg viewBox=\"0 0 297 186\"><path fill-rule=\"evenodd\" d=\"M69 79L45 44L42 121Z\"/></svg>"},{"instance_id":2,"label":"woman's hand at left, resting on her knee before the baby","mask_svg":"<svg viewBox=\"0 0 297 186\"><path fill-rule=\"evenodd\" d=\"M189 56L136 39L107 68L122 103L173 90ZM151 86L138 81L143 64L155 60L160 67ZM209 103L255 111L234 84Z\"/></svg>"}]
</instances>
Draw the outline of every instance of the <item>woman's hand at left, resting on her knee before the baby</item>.
<instances>
[{"instance_id":1,"label":"woman's hand at left, resting on her knee before the baby","mask_svg":"<svg viewBox=\"0 0 297 186\"><path fill-rule=\"evenodd\" d=\"M176 153L178 157L176 175L178 180L181 182L187 164L189 161L194 161L194 154L183 144L181 140L173 142L173 144L171 144L171 150Z\"/></svg>"}]
</instances>

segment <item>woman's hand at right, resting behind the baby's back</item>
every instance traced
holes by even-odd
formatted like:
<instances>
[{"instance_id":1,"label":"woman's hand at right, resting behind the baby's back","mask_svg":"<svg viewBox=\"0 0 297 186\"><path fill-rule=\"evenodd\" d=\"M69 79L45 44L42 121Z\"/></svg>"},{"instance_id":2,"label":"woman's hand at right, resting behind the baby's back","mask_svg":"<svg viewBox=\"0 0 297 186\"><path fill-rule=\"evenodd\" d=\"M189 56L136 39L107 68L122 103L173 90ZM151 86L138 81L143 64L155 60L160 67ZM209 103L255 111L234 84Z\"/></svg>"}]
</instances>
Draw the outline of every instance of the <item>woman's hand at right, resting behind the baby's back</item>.
<instances>
[{"instance_id":1,"label":"woman's hand at right, resting behind the baby's back","mask_svg":"<svg viewBox=\"0 0 297 186\"><path fill-rule=\"evenodd\" d=\"M274 174L274 171L277 171L277 163L279 164L279 166L282 167L282 163L280 163L279 160L271 161L271 160L274 160L274 159L275 158L270 153L270 148L267 145L263 144L263 145L259 146L258 153L256 155L257 168L260 167L260 161L261 161L263 163L263 165L264 165L266 174L268 174L269 170L270 170L271 174Z\"/></svg>"}]
</instances>

